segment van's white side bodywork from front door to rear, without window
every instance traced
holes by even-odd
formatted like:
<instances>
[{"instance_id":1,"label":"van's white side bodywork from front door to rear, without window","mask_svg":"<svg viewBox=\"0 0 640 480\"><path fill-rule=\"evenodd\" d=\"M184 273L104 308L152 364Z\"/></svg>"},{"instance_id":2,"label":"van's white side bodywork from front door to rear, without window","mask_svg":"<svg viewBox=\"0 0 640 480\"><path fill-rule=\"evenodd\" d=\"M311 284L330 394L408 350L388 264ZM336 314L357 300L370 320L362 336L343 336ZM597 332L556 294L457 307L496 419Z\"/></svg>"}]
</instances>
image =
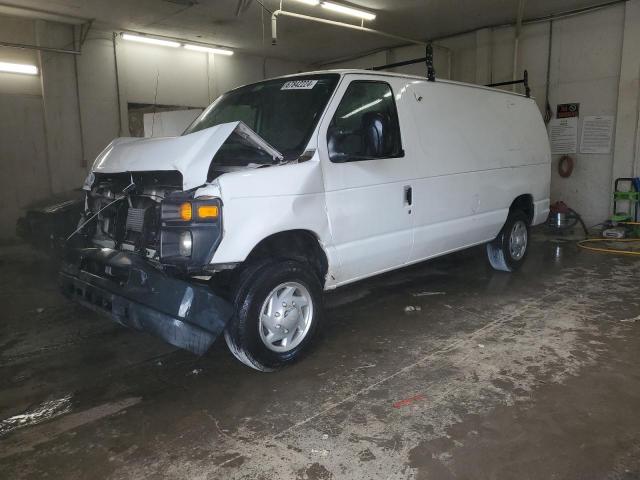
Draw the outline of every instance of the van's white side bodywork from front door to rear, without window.
<instances>
[{"instance_id":1,"label":"van's white side bodywork from front door to rear, without window","mask_svg":"<svg viewBox=\"0 0 640 480\"><path fill-rule=\"evenodd\" d=\"M353 80L391 85L404 157L330 162L328 125ZM490 241L519 195L533 197L533 224L548 213L549 144L535 102L525 97L449 82L346 74L317 141L340 261L331 286ZM406 187L413 192L410 208Z\"/></svg>"}]
</instances>

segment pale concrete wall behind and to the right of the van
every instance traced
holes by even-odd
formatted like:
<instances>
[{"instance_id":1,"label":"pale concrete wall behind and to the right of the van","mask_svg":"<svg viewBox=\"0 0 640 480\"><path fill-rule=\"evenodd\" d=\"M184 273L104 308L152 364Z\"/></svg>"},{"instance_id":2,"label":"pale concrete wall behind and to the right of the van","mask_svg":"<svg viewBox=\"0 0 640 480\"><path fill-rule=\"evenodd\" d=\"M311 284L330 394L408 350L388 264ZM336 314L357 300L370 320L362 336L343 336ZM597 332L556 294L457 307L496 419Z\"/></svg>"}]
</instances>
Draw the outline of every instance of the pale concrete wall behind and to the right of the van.
<instances>
[{"instance_id":1,"label":"pale concrete wall behind and to the right of the van","mask_svg":"<svg viewBox=\"0 0 640 480\"><path fill-rule=\"evenodd\" d=\"M549 102L552 110L555 112L558 103L580 103L578 141L584 116L618 115L615 154L612 148L607 155L572 155L576 159L576 168L569 178L562 178L557 173L559 156L553 159L552 200L565 201L580 212L587 223L596 224L611 213L613 179L629 176L634 171L640 175L637 160L640 148L640 0L556 19L552 25L549 72ZM545 106L549 38L549 22L524 25L518 48L517 76L521 78L522 71L525 68L528 70L532 96L541 112ZM512 79L514 40L515 29L504 27L485 28L436 43L451 52L452 79L486 84ZM387 63L385 58L401 61L422 55L419 47L404 47L326 67L350 68L363 64L368 67ZM444 68L446 59L447 51L436 48L436 70L441 78L447 78ZM424 66L401 67L396 71L424 75Z\"/></svg>"}]
</instances>

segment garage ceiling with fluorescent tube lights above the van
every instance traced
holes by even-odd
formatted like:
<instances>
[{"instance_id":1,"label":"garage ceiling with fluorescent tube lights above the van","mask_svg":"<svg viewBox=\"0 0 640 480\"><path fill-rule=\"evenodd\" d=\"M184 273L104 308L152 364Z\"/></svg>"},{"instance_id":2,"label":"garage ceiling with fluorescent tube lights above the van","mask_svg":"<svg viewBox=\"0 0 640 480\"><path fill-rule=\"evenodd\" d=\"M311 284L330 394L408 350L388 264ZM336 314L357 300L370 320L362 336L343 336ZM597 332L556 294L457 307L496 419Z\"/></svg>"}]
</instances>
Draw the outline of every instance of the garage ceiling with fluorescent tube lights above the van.
<instances>
[{"instance_id":1,"label":"garage ceiling with fluorescent tube lights above the van","mask_svg":"<svg viewBox=\"0 0 640 480\"><path fill-rule=\"evenodd\" d=\"M279 0L262 0L276 10ZM352 0L341 2L374 11L365 26L416 39L437 38L487 25L512 23L518 0ZM525 19L603 3L603 0L530 0ZM2 2L1 5L9 5ZM270 14L257 0L20 0L20 7L95 19L96 28L135 30L232 47L246 53L317 64L354 56L398 42L376 35L303 20L278 20L278 45L271 45ZM246 5L240 8L239 5ZM285 0L286 10L349 22ZM356 22L354 22L356 23ZM263 37L264 32L264 37ZM1 37L1 34L0 34Z\"/></svg>"}]
</instances>

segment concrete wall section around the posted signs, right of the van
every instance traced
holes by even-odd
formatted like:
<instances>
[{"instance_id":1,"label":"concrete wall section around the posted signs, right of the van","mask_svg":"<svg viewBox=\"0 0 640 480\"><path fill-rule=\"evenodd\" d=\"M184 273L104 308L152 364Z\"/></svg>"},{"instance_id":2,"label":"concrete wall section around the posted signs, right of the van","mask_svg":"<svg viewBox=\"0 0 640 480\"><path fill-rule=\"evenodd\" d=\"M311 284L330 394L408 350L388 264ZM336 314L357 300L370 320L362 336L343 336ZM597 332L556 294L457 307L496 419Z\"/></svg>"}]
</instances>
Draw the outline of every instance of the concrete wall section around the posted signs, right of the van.
<instances>
[{"instance_id":1,"label":"concrete wall section around the posted signs, right of the van","mask_svg":"<svg viewBox=\"0 0 640 480\"><path fill-rule=\"evenodd\" d=\"M580 117L616 115L624 6L554 22L550 103L579 102ZM582 122L578 122L578 139ZM589 224L610 216L613 150L577 154L569 178L553 169L551 194L580 212ZM554 160L557 162L557 158Z\"/></svg>"}]
</instances>

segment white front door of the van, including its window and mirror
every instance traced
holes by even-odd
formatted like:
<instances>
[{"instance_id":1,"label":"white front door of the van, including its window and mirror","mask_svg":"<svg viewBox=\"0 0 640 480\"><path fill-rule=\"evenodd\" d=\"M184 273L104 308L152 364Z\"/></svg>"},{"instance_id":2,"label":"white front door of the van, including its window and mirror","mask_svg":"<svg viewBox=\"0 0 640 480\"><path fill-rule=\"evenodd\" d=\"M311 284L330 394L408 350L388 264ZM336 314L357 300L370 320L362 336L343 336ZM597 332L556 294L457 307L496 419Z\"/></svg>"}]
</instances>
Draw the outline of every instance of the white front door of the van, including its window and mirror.
<instances>
[{"instance_id":1,"label":"white front door of the van, including its window and mirror","mask_svg":"<svg viewBox=\"0 0 640 480\"><path fill-rule=\"evenodd\" d=\"M408 261L412 191L392 86L375 76L343 81L337 98L318 146L342 284Z\"/></svg>"}]
</instances>

